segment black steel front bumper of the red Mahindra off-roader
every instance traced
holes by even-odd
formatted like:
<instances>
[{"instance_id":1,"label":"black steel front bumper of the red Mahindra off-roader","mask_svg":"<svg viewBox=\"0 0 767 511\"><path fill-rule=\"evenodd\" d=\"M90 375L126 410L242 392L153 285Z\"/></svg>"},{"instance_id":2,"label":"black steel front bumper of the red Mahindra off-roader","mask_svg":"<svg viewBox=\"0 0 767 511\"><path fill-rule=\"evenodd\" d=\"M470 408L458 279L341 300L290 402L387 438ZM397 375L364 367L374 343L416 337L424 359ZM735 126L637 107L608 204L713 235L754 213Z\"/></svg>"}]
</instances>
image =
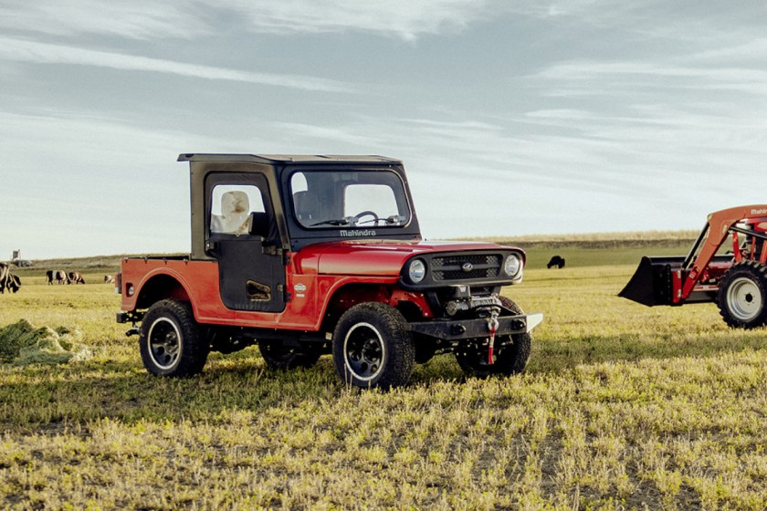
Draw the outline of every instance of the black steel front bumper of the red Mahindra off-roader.
<instances>
[{"instance_id":1,"label":"black steel front bumper of the red Mahindra off-roader","mask_svg":"<svg viewBox=\"0 0 767 511\"><path fill-rule=\"evenodd\" d=\"M496 336L528 334L541 324L542 313L521 314L520 316L499 316ZM477 319L433 319L407 323L411 332L444 340L482 339L490 336L487 318Z\"/></svg>"}]
</instances>

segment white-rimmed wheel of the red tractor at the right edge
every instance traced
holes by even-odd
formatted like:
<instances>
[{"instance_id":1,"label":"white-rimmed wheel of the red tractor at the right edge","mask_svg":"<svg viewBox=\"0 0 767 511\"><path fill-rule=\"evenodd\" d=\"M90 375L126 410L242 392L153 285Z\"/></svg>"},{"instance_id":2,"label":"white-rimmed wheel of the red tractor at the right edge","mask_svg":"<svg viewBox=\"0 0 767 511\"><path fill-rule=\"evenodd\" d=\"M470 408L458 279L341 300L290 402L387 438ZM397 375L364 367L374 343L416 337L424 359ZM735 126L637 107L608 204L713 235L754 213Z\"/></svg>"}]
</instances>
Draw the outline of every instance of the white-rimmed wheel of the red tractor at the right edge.
<instances>
[{"instance_id":1,"label":"white-rimmed wheel of the red tractor at the right edge","mask_svg":"<svg viewBox=\"0 0 767 511\"><path fill-rule=\"evenodd\" d=\"M744 261L722 276L717 305L731 328L758 328L767 324L767 266Z\"/></svg>"}]
</instances>

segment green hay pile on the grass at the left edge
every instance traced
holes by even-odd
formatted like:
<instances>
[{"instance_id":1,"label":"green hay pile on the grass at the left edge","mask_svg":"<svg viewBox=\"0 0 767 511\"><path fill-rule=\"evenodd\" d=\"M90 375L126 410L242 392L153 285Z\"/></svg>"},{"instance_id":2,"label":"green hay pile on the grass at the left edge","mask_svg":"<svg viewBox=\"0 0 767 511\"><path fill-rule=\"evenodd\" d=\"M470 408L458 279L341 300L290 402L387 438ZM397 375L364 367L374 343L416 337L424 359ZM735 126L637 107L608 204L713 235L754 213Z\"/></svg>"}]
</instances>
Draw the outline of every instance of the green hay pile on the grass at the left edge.
<instances>
[{"instance_id":1,"label":"green hay pile on the grass at the left edge","mask_svg":"<svg viewBox=\"0 0 767 511\"><path fill-rule=\"evenodd\" d=\"M0 328L0 363L66 364L88 360L93 352L79 340L78 330L35 328L26 319Z\"/></svg>"}]
</instances>

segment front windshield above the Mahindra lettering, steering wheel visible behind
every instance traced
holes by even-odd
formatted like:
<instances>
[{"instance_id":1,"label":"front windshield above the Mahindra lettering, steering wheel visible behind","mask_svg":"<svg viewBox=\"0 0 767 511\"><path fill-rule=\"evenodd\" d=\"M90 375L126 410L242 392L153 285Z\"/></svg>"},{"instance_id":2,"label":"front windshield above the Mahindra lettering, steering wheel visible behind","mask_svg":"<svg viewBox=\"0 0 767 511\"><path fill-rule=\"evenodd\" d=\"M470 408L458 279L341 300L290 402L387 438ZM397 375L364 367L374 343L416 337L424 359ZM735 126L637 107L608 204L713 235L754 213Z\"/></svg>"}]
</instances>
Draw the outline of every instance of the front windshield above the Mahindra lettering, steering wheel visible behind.
<instances>
[{"instance_id":1,"label":"front windshield above the Mahindra lettering, steering wheel visible behind","mask_svg":"<svg viewBox=\"0 0 767 511\"><path fill-rule=\"evenodd\" d=\"M391 171L307 171L290 176L293 211L307 228L397 227L410 221L405 187Z\"/></svg>"}]
</instances>

